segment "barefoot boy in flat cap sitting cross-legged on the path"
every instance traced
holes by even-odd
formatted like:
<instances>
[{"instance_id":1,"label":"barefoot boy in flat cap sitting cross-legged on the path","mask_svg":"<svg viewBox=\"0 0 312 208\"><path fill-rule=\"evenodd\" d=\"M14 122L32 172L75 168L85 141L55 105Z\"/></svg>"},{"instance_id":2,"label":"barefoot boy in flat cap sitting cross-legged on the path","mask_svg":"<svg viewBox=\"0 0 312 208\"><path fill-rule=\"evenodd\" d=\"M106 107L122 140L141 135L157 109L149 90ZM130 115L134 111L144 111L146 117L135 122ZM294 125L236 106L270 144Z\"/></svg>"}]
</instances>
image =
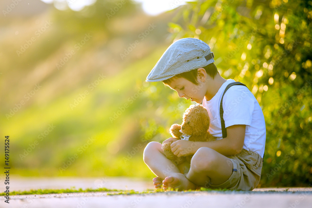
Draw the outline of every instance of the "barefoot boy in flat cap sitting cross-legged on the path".
<instances>
[{"instance_id":1,"label":"barefoot boy in flat cap sitting cross-legged on the path","mask_svg":"<svg viewBox=\"0 0 312 208\"><path fill-rule=\"evenodd\" d=\"M202 103L210 117L209 133L217 137L197 143L165 140L173 141L171 150L178 157L194 154L184 174L181 166L165 157L162 144L148 143L143 159L157 176L155 188L251 191L260 181L266 141L262 110L246 85L220 76L213 57L205 42L182 38L167 48L147 76L147 82L163 81L180 98Z\"/></svg>"}]
</instances>

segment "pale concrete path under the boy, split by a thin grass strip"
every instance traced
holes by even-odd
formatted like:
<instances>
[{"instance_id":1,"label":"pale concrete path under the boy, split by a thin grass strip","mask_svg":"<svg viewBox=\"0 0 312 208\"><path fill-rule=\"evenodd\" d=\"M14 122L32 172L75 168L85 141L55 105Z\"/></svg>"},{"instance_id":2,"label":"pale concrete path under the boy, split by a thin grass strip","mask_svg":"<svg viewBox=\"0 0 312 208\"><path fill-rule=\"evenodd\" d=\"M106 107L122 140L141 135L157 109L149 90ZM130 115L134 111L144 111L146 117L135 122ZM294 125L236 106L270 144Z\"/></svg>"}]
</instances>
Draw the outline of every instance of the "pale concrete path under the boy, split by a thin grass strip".
<instances>
[{"instance_id":1,"label":"pale concrete path under the boy, split by a thin grass strip","mask_svg":"<svg viewBox=\"0 0 312 208\"><path fill-rule=\"evenodd\" d=\"M14 179L13 179L14 178ZM15 180L15 182L14 182ZM13 190L30 190L38 188L116 188L135 191L144 191L154 188L147 182L133 181L129 178L10 178ZM2 182L1 182L2 183ZM15 188L14 188L15 187ZM24 188L23 188L24 187ZM133 188L134 187L134 188ZM1 187L3 188L3 186ZM17 189L16 189L17 188ZM151 194L132 195L107 195L111 192L88 193L63 193L41 195L16 195L10 196L9 204L4 202L4 196L0 197L0 207L285 207L301 208L312 207L312 188L256 188L253 191L193 191L193 192L165 192ZM277 192L272 192L273 190ZM1 190L2 191L2 190Z\"/></svg>"}]
</instances>

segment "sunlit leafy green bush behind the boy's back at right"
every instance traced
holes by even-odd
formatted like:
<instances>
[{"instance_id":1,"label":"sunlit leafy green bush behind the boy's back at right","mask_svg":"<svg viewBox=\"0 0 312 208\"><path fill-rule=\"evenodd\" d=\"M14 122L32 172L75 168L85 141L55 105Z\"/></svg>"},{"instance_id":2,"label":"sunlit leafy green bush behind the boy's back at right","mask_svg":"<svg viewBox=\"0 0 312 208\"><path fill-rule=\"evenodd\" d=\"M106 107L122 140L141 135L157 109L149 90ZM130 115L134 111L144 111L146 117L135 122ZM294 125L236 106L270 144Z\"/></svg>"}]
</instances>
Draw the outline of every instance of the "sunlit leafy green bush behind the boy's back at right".
<instances>
[{"instance_id":1,"label":"sunlit leafy green bush behind the boy's back at right","mask_svg":"<svg viewBox=\"0 0 312 208\"><path fill-rule=\"evenodd\" d=\"M220 74L258 100L266 149L258 187L312 186L312 1L198 1L169 23L211 47Z\"/></svg>"}]
</instances>

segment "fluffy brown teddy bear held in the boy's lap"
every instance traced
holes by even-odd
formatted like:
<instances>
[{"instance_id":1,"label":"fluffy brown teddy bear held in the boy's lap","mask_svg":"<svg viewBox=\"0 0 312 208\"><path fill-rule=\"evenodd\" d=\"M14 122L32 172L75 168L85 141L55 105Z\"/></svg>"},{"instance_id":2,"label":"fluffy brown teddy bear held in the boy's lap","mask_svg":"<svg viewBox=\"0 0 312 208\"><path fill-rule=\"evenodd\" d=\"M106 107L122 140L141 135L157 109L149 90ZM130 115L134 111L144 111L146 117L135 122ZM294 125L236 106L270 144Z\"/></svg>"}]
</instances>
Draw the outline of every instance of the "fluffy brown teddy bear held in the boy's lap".
<instances>
[{"instance_id":1,"label":"fluffy brown teddy bear held in the boy's lap","mask_svg":"<svg viewBox=\"0 0 312 208\"><path fill-rule=\"evenodd\" d=\"M193 142L208 142L216 140L209 132L210 118L207 109L201 104L190 105L183 113L182 125L174 123L170 127L170 134L179 139ZM168 159L179 165L185 161L190 163L193 155L177 157L171 151L172 142L165 142L162 145L164 154ZM191 148L191 147L190 147Z\"/></svg>"}]
</instances>

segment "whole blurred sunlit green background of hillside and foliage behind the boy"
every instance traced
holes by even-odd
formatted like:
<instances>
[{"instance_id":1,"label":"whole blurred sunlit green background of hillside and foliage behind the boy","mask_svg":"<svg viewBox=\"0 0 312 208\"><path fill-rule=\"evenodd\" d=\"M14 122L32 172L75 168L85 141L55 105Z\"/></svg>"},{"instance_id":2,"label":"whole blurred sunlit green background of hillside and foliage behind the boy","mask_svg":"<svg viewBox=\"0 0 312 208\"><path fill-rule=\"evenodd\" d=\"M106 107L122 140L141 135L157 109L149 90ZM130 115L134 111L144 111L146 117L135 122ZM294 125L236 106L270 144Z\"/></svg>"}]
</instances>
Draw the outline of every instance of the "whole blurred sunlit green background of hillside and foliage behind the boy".
<instances>
[{"instance_id":1,"label":"whole blurred sunlit green background of hillside and foliage behind the boy","mask_svg":"<svg viewBox=\"0 0 312 208\"><path fill-rule=\"evenodd\" d=\"M2 0L0 8L0 147L9 135L11 173L151 181L145 146L171 137L194 102L145 79L173 41L195 37L262 108L258 187L312 186L312 1Z\"/></svg>"}]
</instances>

